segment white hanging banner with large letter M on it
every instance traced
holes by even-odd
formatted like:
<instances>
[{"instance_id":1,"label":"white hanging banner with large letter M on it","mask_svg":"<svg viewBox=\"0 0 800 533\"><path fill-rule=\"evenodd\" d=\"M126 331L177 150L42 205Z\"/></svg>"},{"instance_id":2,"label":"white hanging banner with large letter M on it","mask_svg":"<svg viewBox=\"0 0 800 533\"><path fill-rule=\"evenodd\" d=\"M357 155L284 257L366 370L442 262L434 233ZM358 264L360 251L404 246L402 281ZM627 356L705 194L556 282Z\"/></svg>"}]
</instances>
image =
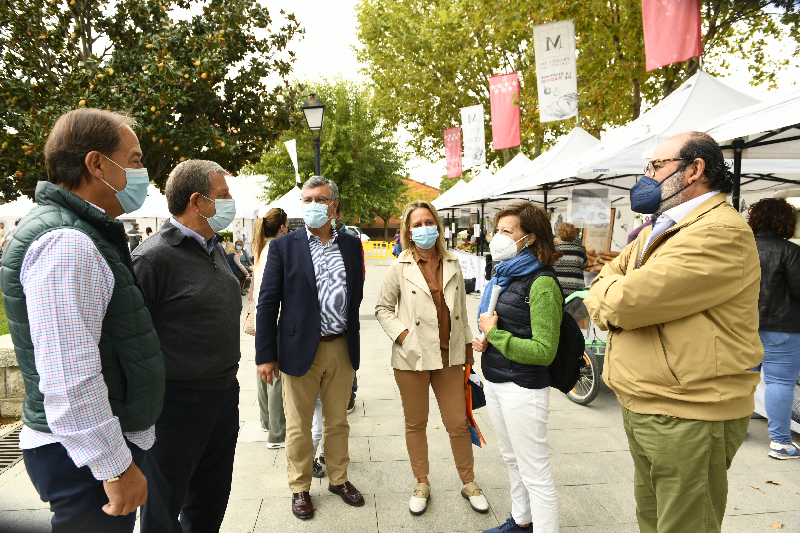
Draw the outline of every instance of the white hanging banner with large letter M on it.
<instances>
[{"instance_id":1,"label":"white hanging banner with large letter M on it","mask_svg":"<svg viewBox=\"0 0 800 533\"><path fill-rule=\"evenodd\" d=\"M571 20L534 26L539 121L578 116L578 69L575 25Z\"/></svg>"}]
</instances>

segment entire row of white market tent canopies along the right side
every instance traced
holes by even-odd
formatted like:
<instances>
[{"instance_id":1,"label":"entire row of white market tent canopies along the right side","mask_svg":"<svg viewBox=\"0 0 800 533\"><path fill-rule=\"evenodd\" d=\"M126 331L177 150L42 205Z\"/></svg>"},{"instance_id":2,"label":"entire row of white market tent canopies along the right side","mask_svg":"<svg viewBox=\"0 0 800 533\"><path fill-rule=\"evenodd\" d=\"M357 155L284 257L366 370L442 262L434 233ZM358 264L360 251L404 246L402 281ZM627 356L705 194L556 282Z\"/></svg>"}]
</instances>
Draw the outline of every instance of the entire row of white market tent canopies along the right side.
<instances>
[{"instance_id":1,"label":"entire row of white market tent canopies along the right side","mask_svg":"<svg viewBox=\"0 0 800 533\"><path fill-rule=\"evenodd\" d=\"M485 171L453 187L434 205L496 208L520 198L552 205L569 199L574 189L604 185L614 188L612 197L626 199L658 143L686 131L706 131L720 142L742 177L742 193L798 187L798 129L800 91L760 102L700 71L602 141L575 128L534 161L520 153L497 173Z\"/></svg>"}]
</instances>

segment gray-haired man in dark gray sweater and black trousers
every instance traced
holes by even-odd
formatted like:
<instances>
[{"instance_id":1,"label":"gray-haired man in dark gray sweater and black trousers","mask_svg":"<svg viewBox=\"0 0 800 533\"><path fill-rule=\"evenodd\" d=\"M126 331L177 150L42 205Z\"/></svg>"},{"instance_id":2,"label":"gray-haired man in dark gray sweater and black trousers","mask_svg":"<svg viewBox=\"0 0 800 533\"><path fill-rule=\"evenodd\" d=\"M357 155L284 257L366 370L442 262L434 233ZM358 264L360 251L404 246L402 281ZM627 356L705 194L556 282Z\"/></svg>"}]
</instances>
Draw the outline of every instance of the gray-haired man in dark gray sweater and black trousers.
<instances>
[{"instance_id":1,"label":"gray-haired man in dark gray sweater and black trousers","mask_svg":"<svg viewBox=\"0 0 800 533\"><path fill-rule=\"evenodd\" d=\"M212 161L176 166L166 199L172 217L133 254L166 364L164 410L142 467L142 533L218 531L238 433L242 296L216 232L235 206Z\"/></svg>"}]
</instances>

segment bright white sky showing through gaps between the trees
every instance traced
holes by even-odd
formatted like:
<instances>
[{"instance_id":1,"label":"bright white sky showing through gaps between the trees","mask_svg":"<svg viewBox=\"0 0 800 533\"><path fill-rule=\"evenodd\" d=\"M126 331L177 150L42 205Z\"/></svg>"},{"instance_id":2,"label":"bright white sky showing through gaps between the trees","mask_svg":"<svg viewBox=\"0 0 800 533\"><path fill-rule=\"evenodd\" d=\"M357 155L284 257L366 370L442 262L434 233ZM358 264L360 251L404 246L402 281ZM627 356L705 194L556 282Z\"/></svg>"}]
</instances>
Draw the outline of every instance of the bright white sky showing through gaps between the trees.
<instances>
[{"instance_id":1,"label":"bright white sky showing through gaps between the trees","mask_svg":"<svg viewBox=\"0 0 800 533\"><path fill-rule=\"evenodd\" d=\"M296 78L327 78L342 74L345 78L366 80L359 72L361 66L356 61L351 48L358 46L356 38L358 22L355 16L357 3L354 0L337 0L337 2L306 0L291 4L266 2L274 20L278 21L280 18L278 11L284 8L289 12L294 12L302 26L306 28L306 35L302 41L295 42L290 46L298 58L294 66ZM790 42L787 46L794 46L794 44L794 42ZM782 50L780 44L776 44L768 50L768 53L770 52L783 57L786 54L786 50ZM770 92L766 90L766 87L748 85L750 74L747 72L744 62L733 60L731 63L734 68L731 70L731 75L724 78L726 83L743 93L751 94L762 100L770 97ZM780 87L775 93L797 90L800 87L794 83L798 81L800 81L800 68L794 66L786 69L778 76ZM455 109L454 113L456 113ZM402 135L400 138L402 140ZM409 165L409 171L414 179L438 187L439 179L446 173L446 166L444 160L437 163L414 160Z\"/></svg>"}]
</instances>

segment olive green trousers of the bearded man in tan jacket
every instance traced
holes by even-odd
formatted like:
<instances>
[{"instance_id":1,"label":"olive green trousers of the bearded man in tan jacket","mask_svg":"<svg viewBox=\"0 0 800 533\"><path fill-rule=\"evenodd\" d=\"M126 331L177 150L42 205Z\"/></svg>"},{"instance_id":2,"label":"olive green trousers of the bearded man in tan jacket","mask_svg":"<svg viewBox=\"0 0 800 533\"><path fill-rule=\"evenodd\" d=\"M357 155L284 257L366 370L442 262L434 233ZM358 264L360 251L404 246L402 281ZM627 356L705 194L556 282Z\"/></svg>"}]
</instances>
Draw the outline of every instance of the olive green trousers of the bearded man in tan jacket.
<instances>
[{"instance_id":1,"label":"olive green trousers of the bearded man in tan jacket","mask_svg":"<svg viewBox=\"0 0 800 533\"><path fill-rule=\"evenodd\" d=\"M722 531L728 469L750 415L708 422L641 415L622 408L634 459L636 519L641 533Z\"/></svg>"}]
</instances>

